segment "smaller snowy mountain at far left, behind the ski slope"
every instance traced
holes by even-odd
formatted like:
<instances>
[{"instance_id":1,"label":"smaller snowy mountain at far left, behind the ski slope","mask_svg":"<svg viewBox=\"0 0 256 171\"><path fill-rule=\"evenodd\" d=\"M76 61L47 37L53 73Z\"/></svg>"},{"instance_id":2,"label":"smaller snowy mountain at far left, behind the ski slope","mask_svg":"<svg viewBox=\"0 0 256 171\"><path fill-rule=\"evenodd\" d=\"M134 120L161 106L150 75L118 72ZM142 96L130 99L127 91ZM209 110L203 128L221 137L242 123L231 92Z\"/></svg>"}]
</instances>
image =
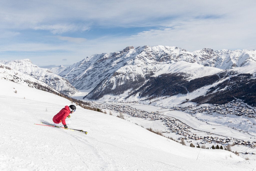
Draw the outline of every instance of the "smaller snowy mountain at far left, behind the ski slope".
<instances>
[{"instance_id":1,"label":"smaller snowy mountain at far left, behind the ski slope","mask_svg":"<svg viewBox=\"0 0 256 171\"><path fill-rule=\"evenodd\" d=\"M52 73L49 69L39 68L32 64L29 59L2 61L2 63L48 84L65 95L78 93L78 90L76 90L67 79Z\"/></svg>"}]
</instances>

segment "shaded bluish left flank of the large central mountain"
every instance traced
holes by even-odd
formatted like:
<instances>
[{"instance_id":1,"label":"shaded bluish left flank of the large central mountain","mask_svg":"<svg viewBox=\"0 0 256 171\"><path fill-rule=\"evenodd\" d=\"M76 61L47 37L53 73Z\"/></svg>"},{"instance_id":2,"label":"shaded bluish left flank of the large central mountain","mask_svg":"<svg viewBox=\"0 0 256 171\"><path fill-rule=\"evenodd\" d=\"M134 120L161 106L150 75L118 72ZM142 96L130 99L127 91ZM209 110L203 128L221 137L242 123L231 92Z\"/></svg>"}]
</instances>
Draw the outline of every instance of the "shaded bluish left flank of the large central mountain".
<instances>
[{"instance_id":1,"label":"shaded bluish left flank of the large central mountain","mask_svg":"<svg viewBox=\"0 0 256 171\"><path fill-rule=\"evenodd\" d=\"M133 47L127 47L118 53L91 55L69 66L59 75L67 78L77 89L92 89L130 60L132 51L129 49L132 50Z\"/></svg>"}]
</instances>

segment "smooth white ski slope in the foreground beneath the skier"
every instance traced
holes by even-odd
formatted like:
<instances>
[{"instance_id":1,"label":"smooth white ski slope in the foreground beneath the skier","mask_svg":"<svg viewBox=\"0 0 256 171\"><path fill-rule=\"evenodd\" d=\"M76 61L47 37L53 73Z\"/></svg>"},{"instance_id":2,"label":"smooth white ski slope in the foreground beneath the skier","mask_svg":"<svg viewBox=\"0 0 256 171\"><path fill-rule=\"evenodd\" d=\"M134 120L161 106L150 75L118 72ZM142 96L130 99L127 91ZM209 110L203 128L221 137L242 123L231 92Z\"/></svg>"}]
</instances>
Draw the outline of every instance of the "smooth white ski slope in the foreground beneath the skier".
<instances>
[{"instance_id":1,"label":"smooth white ski slope in the foreground beneath the skier","mask_svg":"<svg viewBox=\"0 0 256 171\"><path fill-rule=\"evenodd\" d=\"M69 128L87 135L35 125L52 123L71 102L4 79L0 89L0 170L255 170L255 160L226 150L183 146L79 106Z\"/></svg>"}]
</instances>

